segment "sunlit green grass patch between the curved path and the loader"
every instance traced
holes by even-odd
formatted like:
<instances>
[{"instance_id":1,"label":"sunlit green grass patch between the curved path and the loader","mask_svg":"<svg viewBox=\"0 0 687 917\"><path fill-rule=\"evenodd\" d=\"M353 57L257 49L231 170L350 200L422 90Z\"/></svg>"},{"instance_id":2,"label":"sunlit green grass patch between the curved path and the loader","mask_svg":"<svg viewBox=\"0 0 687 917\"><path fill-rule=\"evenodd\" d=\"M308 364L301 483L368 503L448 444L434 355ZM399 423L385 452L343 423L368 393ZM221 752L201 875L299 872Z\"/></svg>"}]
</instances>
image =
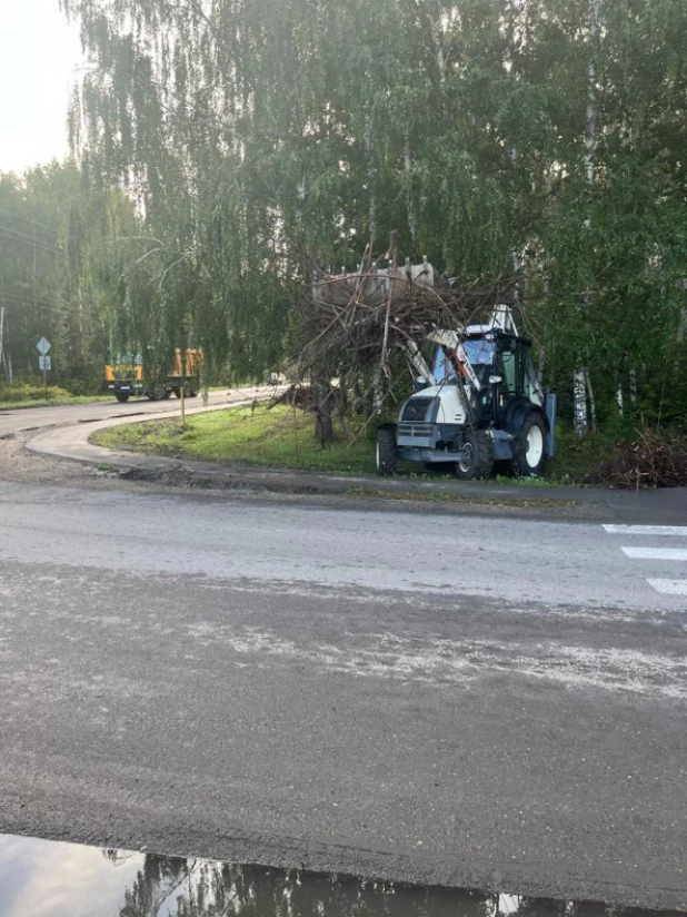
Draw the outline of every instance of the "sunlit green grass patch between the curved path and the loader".
<instances>
[{"instance_id":1,"label":"sunlit green grass patch between the curved path and the loader","mask_svg":"<svg viewBox=\"0 0 687 917\"><path fill-rule=\"evenodd\" d=\"M228 464L326 469L342 473L375 471L375 444L362 431L351 443L338 433L330 448L313 435L312 416L285 405L235 407L193 414L183 430L178 420L146 421L102 430L93 443L110 448Z\"/></svg>"}]
</instances>

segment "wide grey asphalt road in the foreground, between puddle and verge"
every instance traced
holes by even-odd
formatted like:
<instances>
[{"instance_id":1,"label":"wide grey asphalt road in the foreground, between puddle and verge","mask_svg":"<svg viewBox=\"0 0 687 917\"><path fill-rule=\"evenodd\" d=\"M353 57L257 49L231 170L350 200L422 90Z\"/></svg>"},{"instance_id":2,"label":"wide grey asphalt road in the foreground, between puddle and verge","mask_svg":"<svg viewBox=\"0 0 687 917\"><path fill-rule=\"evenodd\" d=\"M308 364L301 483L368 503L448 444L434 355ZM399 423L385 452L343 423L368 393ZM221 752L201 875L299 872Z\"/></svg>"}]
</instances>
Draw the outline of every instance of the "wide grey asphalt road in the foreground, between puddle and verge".
<instances>
[{"instance_id":1,"label":"wide grey asphalt road in the foreground, between puddle and verge","mask_svg":"<svg viewBox=\"0 0 687 917\"><path fill-rule=\"evenodd\" d=\"M681 549L0 483L0 830L687 909Z\"/></svg>"}]
</instances>

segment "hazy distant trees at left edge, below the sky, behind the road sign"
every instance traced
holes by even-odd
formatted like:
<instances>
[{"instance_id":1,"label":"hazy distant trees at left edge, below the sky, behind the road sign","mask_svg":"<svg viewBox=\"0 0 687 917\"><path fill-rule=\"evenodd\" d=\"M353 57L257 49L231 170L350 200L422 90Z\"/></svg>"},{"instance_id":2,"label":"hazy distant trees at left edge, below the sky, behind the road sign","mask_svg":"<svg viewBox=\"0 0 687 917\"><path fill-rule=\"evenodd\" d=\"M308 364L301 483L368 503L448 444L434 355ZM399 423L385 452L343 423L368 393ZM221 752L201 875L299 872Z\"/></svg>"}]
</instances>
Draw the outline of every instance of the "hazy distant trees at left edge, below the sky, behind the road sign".
<instances>
[{"instance_id":1,"label":"hazy distant trees at left edge, below the sky, behind the road sign","mask_svg":"<svg viewBox=\"0 0 687 917\"><path fill-rule=\"evenodd\" d=\"M89 188L76 166L52 164L23 178L0 175L0 377L42 377L36 343L52 347L51 382L97 392L113 324L103 275L122 227L136 225L119 191Z\"/></svg>"}]
</instances>

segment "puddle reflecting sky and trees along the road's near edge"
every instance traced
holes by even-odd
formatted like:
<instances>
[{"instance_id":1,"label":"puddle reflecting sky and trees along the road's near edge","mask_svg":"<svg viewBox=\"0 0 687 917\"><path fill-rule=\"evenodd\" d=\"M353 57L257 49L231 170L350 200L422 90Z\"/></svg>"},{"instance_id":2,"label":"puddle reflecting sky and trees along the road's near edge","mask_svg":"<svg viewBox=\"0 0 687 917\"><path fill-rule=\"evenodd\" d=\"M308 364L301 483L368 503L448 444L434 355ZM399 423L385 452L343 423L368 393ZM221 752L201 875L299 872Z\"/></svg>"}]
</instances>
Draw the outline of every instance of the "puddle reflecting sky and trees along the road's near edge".
<instances>
[{"instance_id":1,"label":"puddle reflecting sky and trees along the road's near edge","mask_svg":"<svg viewBox=\"0 0 687 917\"><path fill-rule=\"evenodd\" d=\"M2 917L649 917L656 913L0 835Z\"/></svg>"}]
</instances>

